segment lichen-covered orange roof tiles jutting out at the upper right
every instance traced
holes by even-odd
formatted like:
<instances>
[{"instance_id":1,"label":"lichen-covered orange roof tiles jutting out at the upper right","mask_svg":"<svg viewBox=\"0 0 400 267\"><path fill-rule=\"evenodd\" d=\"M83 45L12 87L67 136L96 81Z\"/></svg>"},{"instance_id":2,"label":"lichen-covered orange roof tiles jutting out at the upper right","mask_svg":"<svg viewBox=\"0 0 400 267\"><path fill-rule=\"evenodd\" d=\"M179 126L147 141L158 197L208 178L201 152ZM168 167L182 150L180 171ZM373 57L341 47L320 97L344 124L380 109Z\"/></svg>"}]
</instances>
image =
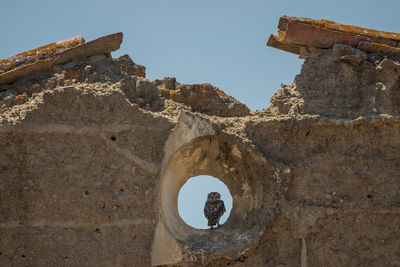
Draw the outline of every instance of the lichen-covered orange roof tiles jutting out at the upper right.
<instances>
[{"instance_id":1,"label":"lichen-covered orange roof tiles jutting out at the upper right","mask_svg":"<svg viewBox=\"0 0 400 267\"><path fill-rule=\"evenodd\" d=\"M399 55L400 34L340 24L330 20L313 20L283 16L278 34L271 34L268 46L294 54L302 47L331 48L347 44L366 52Z\"/></svg>"}]
</instances>

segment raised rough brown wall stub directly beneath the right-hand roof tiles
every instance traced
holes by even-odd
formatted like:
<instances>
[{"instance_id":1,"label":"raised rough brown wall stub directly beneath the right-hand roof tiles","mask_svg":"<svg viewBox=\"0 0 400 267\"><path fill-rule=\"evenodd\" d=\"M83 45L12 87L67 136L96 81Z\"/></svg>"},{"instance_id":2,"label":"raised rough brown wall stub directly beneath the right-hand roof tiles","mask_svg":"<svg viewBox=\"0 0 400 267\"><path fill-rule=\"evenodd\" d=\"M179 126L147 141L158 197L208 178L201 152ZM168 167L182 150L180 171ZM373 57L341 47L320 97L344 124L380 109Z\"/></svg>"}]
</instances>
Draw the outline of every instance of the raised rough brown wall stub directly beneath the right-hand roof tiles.
<instances>
[{"instance_id":1,"label":"raised rough brown wall stub directly beneath the right-hand roof tiles","mask_svg":"<svg viewBox=\"0 0 400 267\"><path fill-rule=\"evenodd\" d=\"M336 44L315 50L295 84L272 97L279 113L357 118L400 114L400 60Z\"/></svg>"}]
</instances>

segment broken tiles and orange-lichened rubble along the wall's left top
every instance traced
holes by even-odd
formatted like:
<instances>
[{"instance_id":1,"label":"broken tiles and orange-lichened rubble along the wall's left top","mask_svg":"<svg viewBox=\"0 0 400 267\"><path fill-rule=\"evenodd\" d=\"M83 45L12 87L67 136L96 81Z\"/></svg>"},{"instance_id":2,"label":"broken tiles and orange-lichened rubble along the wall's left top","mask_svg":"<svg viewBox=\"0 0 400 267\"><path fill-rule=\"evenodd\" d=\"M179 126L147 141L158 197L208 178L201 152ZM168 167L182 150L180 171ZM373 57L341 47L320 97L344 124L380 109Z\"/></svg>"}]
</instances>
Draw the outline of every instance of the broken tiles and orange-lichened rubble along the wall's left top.
<instances>
[{"instance_id":1,"label":"broken tiles and orange-lichened rubble along the wall's left top","mask_svg":"<svg viewBox=\"0 0 400 267\"><path fill-rule=\"evenodd\" d=\"M176 115L180 109L221 117L246 116L249 108L211 84L149 81L128 55L112 58L123 34L85 43L81 35L0 60L0 109L27 102L44 90L69 85L118 87L132 104Z\"/></svg>"}]
</instances>

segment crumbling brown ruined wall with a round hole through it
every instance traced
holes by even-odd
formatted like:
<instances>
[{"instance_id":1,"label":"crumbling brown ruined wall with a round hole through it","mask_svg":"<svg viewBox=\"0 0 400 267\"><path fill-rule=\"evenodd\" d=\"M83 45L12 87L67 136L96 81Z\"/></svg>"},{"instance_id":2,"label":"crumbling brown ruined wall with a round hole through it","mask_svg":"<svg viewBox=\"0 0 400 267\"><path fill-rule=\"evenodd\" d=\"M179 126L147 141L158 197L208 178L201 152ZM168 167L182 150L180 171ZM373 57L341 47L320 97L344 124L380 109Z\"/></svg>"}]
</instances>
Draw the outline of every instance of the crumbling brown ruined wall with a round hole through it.
<instances>
[{"instance_id":1,"label":"crumbling brown ruined wall with a round hole through it","mask_svg":"<svg viewBox=\"0 0 400 267\"><path fill-rule=\"evenodd\" d=\"M301 73L250 112L145 79L118 38L0 62L1 266L400 265L396 56L291 46ZM177 212L200 174L232 193L217 230Z\"/></svg>"}]
</instances>

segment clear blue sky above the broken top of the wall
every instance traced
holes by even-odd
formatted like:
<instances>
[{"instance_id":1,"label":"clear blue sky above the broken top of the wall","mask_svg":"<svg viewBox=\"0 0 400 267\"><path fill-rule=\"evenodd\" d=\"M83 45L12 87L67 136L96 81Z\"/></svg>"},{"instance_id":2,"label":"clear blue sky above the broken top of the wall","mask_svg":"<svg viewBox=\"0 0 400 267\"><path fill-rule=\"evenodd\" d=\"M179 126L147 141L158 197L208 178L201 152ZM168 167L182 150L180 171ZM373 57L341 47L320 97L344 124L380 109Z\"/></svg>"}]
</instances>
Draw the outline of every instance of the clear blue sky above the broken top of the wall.
<instances>
[{"instance_id":1,"label":"clear blue sky above the broken top of the wall","mask_svg":"<svg viewBox=\"0 0 400 267\"><path fill-rule=\"evenodd\" d=\"M211 83L255 110L268 106L281 83L292 83L303 62L266 46L280 16L400 32L399 10L399 0L3 0L0 58L79 34L90 41L122 31L113 56L129 54L150 80ZM207 191L203 181L197 188ZM205 198L193 201L201 207Z\"/></svg>"}]
</instances>

